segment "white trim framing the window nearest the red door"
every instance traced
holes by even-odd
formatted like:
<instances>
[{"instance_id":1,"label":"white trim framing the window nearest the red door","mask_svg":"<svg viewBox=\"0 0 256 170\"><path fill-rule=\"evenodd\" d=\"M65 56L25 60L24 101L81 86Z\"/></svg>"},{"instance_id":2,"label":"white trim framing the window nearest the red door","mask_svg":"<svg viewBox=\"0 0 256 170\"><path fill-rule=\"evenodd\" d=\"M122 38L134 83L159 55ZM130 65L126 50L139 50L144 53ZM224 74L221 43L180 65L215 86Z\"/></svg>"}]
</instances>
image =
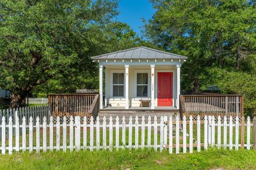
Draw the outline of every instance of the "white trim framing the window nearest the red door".
<instances>
[{"instance_id":1,"label":"white trim framing the window nearest the red door","mask_svg":"<svg viewBox=\"0 0 256 170\"><path fill-rule=\"evenodd\" d=\"M137 73L148 74L148 96L147 97L137 97ZM151 84L150 70L134 70L134 97L135 97L134 100L150 100L151 99L150 84Z\"/></svg>"}]
</instances>

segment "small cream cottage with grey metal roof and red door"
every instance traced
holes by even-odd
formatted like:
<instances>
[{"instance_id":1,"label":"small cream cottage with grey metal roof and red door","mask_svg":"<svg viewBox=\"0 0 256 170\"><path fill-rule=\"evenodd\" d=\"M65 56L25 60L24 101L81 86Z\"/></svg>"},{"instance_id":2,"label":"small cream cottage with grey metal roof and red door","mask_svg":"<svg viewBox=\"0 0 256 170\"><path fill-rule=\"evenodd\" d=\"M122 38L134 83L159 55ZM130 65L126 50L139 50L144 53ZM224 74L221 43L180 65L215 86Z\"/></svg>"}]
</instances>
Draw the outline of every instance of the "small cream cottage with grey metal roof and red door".
<instances>
[{"instance_id":1,"label":"small cream cottage with grey metal roof and red door","mask_svg":"<svg viewBox=\"0 0 256 170\"><path fill-rule=\"evenodd\" d=\"M126 110L148 103L150 110L179 109L180 67L186 59L143 46L93 56L99 63L100 109Z\"/></svg>"}]
</instances>

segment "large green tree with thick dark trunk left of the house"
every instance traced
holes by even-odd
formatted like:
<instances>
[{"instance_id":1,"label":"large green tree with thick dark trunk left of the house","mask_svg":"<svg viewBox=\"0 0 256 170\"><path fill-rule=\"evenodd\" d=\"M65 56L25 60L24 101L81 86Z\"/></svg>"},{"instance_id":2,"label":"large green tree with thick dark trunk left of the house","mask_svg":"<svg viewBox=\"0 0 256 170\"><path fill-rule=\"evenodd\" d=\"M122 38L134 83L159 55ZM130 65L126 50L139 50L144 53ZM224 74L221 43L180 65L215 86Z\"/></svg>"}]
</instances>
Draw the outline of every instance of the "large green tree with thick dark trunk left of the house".
<instances>
[{"instance_id":1,"label":"large green tree with thick dark trunk left of the house","mask_svg":"<svg viewBox=\"0 0 256 170\"><path fill-rule=\"evenodd\" d=\"M90 56L105 51L116 7L110 0L2 0L0 88L11 91L10 107L49 79L93 72Z\"/></svg>"}]
</instances>

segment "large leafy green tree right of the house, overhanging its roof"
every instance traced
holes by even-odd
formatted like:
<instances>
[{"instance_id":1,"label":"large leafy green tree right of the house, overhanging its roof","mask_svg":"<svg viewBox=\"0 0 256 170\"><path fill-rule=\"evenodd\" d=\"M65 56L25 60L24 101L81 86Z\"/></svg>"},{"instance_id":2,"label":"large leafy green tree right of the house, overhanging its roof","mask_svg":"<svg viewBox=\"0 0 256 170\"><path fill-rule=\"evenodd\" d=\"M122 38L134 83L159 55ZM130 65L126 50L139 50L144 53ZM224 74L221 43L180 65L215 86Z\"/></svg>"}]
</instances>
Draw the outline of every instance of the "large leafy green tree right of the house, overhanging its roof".
<instances>
[{"instance_id":1,"label":"large leafy green tree right of the house, overhanging its roof","mask_svg":"<svg viewBox=\"0 0 256 170\"><path fill-rule=\"evenodd\" d=\"M206 68L256 74L256 1L151 2L156 12L145 24L145 36L167 51L188 56L182 66L184 90L206 85Z\"/></svg>"}]
</instances>

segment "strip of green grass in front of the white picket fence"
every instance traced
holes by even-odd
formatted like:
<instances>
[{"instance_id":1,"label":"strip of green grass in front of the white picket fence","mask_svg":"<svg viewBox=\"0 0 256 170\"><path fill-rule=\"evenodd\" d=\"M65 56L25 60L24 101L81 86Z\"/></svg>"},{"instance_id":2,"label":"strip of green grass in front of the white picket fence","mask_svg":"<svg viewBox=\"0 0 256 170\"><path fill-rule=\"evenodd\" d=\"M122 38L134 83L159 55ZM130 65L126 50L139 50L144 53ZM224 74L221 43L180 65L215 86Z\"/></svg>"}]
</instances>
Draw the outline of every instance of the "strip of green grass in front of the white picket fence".
<instances>
[{"instance_id":1,"label":"strip of green grass in front of the white picket fence","mask_svg":"<svg viewBox=\"0 0 256 170\"><path fill-rule=\"evenodd\" d=\"M0 156L0 169L256 169L254 150L169 154L150 149L14 153Z\"/></svg>"}]
</instances>

